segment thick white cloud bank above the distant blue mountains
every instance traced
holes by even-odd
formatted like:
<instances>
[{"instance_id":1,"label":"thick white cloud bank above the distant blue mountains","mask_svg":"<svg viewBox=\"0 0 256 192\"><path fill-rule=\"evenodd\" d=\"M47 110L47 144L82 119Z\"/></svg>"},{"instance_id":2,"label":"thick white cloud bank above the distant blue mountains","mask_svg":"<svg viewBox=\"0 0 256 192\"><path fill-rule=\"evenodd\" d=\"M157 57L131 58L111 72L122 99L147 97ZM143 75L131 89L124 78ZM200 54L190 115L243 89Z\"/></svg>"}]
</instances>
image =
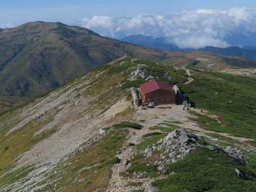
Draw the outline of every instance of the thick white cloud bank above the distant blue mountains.
<instances>
[{"instance_id":1,"label":"thick white cloud bank above the distant blue mountains","mask_svg":"<svg viewBox=\"0 0 256 192\"><path fill-rule=\"evenodd\" d=\"M80 25L112 38L142 34L165 37L179 48L227 47L230 45L225 37L230 34L256 32L256 9L198 9L162 15L93 16L82 18Z\"/></svg>"}]
</instances>

